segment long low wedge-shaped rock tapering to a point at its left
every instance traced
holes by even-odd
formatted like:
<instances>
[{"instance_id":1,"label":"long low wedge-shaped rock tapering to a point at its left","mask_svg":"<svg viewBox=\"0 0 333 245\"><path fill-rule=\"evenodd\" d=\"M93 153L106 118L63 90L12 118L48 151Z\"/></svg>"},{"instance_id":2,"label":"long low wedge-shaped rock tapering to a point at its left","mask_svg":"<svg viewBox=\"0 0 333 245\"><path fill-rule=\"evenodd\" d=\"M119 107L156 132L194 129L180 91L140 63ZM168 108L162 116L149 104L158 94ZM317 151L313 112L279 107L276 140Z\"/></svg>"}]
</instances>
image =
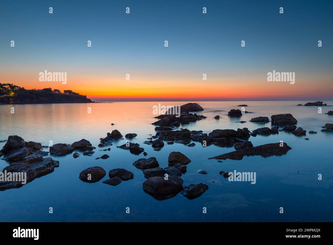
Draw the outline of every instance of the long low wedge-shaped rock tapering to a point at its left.
<instances>
[{"instance_id":1,"label":"long low wedge-shaped rock tapering to a point at its left","mask_svg":"<svg viewBox=\"0 0 333 245\"><path fill-rule=\"evenodd\" d=\"M282 144L282 146L280 146ZM254 146L245 148L242 150L232 151L229 153L225 153L219 156L211 157L208 159L233 159L233 160L241 160L243 156L254 156L254 155L261 155L263 157L268 157L272 155L283 155L286 154L288 150L290 150L286 143L270 143L260 146Z\"/></svg>"}]
</instances>

